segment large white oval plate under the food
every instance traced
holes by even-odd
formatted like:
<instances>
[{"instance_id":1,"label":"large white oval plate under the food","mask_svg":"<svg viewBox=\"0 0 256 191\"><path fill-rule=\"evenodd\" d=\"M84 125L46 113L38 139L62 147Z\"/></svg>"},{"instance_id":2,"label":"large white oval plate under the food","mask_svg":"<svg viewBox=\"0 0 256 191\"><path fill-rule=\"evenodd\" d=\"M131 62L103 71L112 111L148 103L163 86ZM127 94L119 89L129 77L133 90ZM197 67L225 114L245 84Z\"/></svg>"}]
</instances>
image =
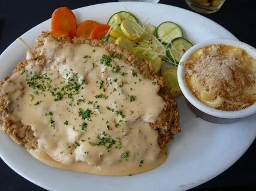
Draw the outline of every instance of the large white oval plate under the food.
<instances>
[{"instance_id":1,"label":"large white oval plate under the food","mask_svg":"<svg viewBox=\"0 0 256 191\"><path fill-rule=\"evenodd\" d=\"M78 23L92 19L106 23L118 11L131 11L140 21L157 26L162 21L178 23L192 43L212 38L236 39L219 24L181 8L143 2L115 2L74 10ZM32 47L50 20L22 35ZM26 47L14 41L0 56L0 78L10 75L25 58ZM0 156L18 174L49 190L186 190L202 184L230 167L248 149L256 136L255 115L229 125L216 125L196 118L183 97L178 99L182 132L169 144L167 161L155 170L131 177L103 177L57 170L34 159L9 137L0 133Z\"/></svg>"}]
</instances>

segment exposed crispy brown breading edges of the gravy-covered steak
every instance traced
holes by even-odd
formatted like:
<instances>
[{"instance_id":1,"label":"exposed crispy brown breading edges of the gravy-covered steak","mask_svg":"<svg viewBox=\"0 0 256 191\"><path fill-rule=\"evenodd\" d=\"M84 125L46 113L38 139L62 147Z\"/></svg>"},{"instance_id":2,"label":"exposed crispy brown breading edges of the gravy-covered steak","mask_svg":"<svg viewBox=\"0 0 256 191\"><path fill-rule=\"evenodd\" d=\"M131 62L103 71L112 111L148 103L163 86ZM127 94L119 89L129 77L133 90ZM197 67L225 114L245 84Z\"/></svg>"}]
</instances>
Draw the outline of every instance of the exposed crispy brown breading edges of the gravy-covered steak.
<instances>
[{"instance_id":1,"label":"exposed crispy brown breading edges of the gravy-covered steak","mask_svg":"<svg viewBox=\"0 0 256 191\"><path fill-rule=\"evenodd\" d=\"M42 59L41 56L37 55L37 49L44 44L44 38L47 36L49 36L49 33L43 32L38 37L34 49L29 50L34 53L35 60ZM125 63L136 67L143 76L157 81L159 87L161 87L158 94L165 101L165 106L158 116L158 119L155 123L150 124L150 126L158 131L159 146L163 147L173 139L174 134L180 132L176 101L171 97L170 90L167 87L164 87L164 79L161 76L155 75L153 66L149 61L138 58L134 53L131 53L116 44L110 44L103 41L91 41L83 38L74 38L71 40L65 38L65 36L60 36L56 39L62 43L89 44L95 47L104 47L109 51L111 56L121 55L122 58L124 58ZM28 61L26 60L19 63L13 73L22 70L27 64ZM5 81L7 79L8 77L5 78ZM4 82L0 83L0 91L2 84L4 84ZM8 103L2 96L0 96L0 115L0 128L5 134L9 135L17 144L23 144L27 149L37 149L37 137L34 136L31 127L23 125L20 121L14 123L8 119Z\"/></svg>"}]
</instances>

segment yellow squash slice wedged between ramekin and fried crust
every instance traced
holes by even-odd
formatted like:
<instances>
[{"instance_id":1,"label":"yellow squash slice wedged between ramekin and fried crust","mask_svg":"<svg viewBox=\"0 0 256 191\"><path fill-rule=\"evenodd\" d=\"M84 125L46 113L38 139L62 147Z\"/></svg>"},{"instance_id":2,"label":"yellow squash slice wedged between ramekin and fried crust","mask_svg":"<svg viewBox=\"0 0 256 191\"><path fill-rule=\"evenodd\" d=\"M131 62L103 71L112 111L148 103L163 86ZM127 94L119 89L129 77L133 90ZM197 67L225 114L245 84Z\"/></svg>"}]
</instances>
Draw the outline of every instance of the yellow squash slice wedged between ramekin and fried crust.
<instances>
[{"instance_id":1,"label":"yellow squash slice wedged between ramekin and fried crust","mask_svg":"<svg viewBox=\"0 0 256 191\"><path fill-rule=\"evenodd\" d=\"M177 69L166 68L162 71L162 77L165 79L165 85L171 89L171 96L178 97L181 94L177 81Z\"/></svg>"}]
</instances>

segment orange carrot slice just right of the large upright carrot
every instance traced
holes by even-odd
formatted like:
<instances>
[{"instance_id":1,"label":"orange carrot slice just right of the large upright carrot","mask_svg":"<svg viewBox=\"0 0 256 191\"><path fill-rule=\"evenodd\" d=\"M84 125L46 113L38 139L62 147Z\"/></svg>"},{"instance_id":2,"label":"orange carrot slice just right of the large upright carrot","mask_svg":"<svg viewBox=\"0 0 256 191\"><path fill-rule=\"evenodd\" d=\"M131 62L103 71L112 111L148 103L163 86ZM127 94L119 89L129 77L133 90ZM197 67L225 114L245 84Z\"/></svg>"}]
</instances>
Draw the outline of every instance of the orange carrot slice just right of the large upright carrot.
<instances>
[{"instance_id":1,"label":"orange carrot slice just right of the large upright carrot","mask_svg":"<svg viewBox=\"0 0 256 191\"><path fill-rule=\"evenodd\" d=\"M77 26L77 37L83 37L83 38L89 38L92 29L94 29L95 26L98 26L99 23L97 23L94 20L86 20L83 21L83 23L80 23L79 26Z\"/></svg>"}]
</instances>

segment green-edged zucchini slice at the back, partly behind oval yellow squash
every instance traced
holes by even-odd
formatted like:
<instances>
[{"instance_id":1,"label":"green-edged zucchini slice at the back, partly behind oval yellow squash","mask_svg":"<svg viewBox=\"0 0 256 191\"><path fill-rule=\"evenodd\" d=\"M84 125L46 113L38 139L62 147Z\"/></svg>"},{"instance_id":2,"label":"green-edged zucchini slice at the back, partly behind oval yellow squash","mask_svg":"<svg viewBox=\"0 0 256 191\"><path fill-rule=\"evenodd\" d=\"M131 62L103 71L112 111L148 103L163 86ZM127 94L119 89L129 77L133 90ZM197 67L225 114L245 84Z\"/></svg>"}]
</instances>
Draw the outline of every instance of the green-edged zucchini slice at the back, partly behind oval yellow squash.
<instances>
[{"instance_id":1,"label":"green-edged zucchini slice at the back, partly behind oval yellow squash","mask_svg":"<svg viewBox=\"0 0 256 191\"><path fill-rule=\"evenodd\" d=\"M107 24L109 24L110 26L112 26L113 24L121 24L123 20L131 20L134 21L135 23L137 23L137 19L136 17L134 17L133 14L128 13L127 11L120 11L118 13L113 14L109 21L107 21Z\"/></svg>"}]
</instances>

